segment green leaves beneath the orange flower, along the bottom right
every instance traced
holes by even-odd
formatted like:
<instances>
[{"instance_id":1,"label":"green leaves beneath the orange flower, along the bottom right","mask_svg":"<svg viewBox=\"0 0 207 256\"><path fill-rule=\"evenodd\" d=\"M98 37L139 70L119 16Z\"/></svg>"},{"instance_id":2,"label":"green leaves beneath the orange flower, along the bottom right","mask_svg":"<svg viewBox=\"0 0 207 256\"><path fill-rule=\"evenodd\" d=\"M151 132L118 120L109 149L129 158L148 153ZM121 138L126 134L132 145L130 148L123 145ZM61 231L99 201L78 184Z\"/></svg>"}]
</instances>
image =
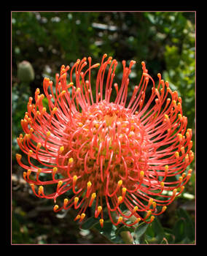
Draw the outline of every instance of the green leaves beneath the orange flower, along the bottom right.
<instances>
[{"instance_id":1,"label":"green leaves beneath the orange flower, along the bottom right","mask_svg":"<svg viewBox=\"0 0 207 256\"><path fill-rule=\"evenodd\" d=\"M176 222L172 228L163 227L159 217L154 222L147 224L141 222L136 228L118 226L115 227L110 221L104 222L103 229L100 227L98 219L90 217L82 224L83 230L91 228L97 229L103 236L114 244L124 244L120 233L130 231L133 235L133 244L194 244L195 230L194 222L182 208L176 210Z\"/></svg>"}]
</instances>

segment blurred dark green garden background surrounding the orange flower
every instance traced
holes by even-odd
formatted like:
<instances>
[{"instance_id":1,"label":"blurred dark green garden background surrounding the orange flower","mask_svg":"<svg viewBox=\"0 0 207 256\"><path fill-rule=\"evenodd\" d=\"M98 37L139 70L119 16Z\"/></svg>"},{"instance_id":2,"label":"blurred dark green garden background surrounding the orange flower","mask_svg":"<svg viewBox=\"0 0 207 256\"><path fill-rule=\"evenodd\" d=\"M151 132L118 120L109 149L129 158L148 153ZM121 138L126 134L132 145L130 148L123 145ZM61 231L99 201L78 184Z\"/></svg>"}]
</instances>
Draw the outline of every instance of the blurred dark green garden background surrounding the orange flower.
<instances>
[{"instance_id":1,"label":"blurred dark green garden background surrounding the orange flower","mask_svg":"<svg viewBox=\"0 0 207 256\"><path fill-rule=\"evenodd\" d=\"M15 159L28 97L42 91L44 76L54 80L62 64L85 56L95 64L103 53L120 61L117 80L121 61L136 61L129 91L141 78L141 61L155 81L158 72L169 81L182 98L195 152L195 12L12 12L12 244L112 243L94 227L80 229L72 209L55 214L52 200L35 197ZM195 243L195 172L156 223L143 243Z\"/></svg>"}]
</instances>

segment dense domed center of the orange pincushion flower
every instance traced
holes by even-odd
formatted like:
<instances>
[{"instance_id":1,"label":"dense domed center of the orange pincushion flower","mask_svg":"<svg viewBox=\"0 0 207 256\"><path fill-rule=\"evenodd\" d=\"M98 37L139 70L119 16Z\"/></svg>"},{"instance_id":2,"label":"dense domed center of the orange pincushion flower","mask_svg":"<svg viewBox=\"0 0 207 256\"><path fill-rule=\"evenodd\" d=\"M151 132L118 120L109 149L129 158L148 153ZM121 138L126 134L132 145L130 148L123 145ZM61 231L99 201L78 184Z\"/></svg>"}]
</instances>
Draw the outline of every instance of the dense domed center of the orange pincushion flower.
<instances>
[{"instance_id":1,"label":"dense domed center of the orange pincushion flower","mask_svg":"<svg viewBox=\"0 0 207 256\"><path fill-rule=\"evenodd\" d=\"M76 186L93 184L93 192L113 192L122 180L133 189L139 173L147 167L147 140L144 128L130 110L99 102L69 121L59 156L63 176L77 176ZM73 159L72 164L69 159Z\"/></svg>"}]
</instances>

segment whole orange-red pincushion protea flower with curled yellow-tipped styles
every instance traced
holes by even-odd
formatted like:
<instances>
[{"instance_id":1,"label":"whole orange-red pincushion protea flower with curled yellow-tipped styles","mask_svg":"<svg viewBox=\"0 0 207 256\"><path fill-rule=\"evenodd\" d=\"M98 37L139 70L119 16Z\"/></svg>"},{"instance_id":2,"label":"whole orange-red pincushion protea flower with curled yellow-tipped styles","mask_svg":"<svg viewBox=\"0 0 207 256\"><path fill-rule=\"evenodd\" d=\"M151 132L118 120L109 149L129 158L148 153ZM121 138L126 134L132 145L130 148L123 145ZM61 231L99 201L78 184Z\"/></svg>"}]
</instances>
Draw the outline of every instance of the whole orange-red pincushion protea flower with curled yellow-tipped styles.
<instances>
[{"instance_id":1,"label":"whole orange-red pincushion protea flower with curled yellow-tipped styles","mask_svg":"<svg viewBox=\"0 0 207 256\"><path fill-rule=\"evenodd\" d=\"M187 129L177 91L171 91L160 74L156 87L141 62L141 81L128 99L129 75L136 61L130 61L129 67L122 61L118 86L113 83L117 61L106 57L101 65L92 65L88 57L78 59L70 70L62 66L54 91L52 81L44 78L44 94L36 89L35 103L29 98L21 120L25 135L17 138L28 165L20 154L17 162L26 169L23 177L37 197L56 203L57 197L71 192L61 206L55 204L55 212L74 207L75 220L82 222L93 205L101 227L107 215L114 225L149 223L183 192L190 179L192 170L185 170L194 157L192 129ZM83 71L87 61L89 67ZM97 67L94 85L91 71ZM152 93L146 100L149 84ZM110 102L113 87L116 96ZM54 191L47 193L52 185Z\"/></svg>"}]
</instances>

